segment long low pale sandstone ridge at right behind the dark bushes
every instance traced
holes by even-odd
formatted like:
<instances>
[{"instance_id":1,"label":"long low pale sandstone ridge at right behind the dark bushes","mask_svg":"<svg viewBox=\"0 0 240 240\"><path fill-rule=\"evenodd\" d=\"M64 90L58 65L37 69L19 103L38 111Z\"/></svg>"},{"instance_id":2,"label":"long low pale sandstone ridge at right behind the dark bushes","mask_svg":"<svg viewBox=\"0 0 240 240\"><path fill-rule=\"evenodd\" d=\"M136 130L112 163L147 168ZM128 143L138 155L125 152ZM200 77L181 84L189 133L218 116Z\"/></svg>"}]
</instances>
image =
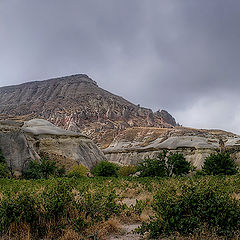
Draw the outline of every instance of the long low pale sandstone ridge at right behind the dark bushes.
<instances>
[{"instance_id":1,"label":"long low pale sandstone ridge at right behind the dark bushes","mask_svg":"<svg viewBox=\"0 0 240 240\"><path fill-rule=\"evenodd\" d=\"M221 130L184 127L127 129L103 151L109 161L126 165L154 158L163 149L183 153L198 169L207 156L222 150L230 151L240 162L240 136Z\"/></svg>"}]
</instances>

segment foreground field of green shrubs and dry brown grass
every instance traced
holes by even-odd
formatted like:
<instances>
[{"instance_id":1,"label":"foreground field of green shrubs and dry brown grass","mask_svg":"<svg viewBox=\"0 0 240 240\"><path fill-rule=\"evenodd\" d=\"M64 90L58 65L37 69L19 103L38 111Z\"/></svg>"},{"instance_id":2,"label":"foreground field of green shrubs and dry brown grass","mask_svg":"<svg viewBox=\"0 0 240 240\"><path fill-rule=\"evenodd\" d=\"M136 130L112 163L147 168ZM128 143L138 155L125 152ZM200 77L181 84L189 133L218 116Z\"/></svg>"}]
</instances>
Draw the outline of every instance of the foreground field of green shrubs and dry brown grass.
<instances>
[{"instance_id":1,"label":"foreground field of green shrubs and dry brown grass","mask_svg":"<svg viewBox=\"0 0 240 240\"><path fill-rule=\"evenodd\" d=\"M240 176L0 179L1 239L238 239Z\"/></svg>"}]
</instances>

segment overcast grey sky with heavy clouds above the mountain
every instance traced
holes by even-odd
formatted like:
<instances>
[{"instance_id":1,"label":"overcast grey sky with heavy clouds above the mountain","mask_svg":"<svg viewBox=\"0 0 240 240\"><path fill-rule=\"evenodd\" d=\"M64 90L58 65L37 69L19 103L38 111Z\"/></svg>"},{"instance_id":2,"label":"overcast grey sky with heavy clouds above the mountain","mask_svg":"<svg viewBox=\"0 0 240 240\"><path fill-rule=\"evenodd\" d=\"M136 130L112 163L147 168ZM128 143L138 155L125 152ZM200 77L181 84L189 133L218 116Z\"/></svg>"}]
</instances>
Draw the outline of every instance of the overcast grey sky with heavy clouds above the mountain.
<instances>
[{"instance_id":1,"label":"overcast grey sky with heavy clouds above the mountain","mask_svg":"<svg viewBox=\"0 0 240 240\"><path fill-rule=\"evenodd\" d=\"M0 86L76 73L240 134L240 1L0 0Z\"/></svg>"}]
</instances>

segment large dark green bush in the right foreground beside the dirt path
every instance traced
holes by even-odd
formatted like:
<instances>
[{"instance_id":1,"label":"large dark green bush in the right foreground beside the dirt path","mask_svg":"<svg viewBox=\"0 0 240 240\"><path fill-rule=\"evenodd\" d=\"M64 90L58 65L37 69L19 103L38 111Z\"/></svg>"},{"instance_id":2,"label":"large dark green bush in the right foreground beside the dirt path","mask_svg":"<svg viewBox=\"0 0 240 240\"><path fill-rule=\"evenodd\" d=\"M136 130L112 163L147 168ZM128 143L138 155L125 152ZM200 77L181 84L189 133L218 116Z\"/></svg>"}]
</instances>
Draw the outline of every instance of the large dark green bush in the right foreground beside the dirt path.
<instances>
[{"instance_id":1,"label":"large dark green bush in the right foreground beside the dirt path","mask_svg":"<svg viewBox=\"0 0 240 240\"><path fill-rule=\"evenodd\" d=\"M143 223L141 234L150 231L150 237L180 233L181 235L215 232L233 236L240 229L240 204L222 186L207 182L184 184L160 190L154 196L155 216Z\"/></svg>"}]
</instances>

